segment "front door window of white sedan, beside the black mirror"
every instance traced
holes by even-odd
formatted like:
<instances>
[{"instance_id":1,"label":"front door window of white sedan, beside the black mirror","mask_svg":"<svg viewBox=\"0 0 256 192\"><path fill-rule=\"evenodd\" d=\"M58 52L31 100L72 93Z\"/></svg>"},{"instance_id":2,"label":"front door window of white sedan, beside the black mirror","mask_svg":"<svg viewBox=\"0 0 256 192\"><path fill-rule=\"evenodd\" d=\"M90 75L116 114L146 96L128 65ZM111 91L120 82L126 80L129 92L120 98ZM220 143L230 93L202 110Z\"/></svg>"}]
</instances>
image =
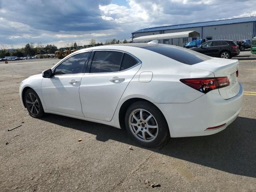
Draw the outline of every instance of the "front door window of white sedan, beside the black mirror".
<instances>
[{"instance_id":1,"label":"front door window of white sedan, beside the black mirror","mask_svg":"<svg viewBox=\"0 0 256 192\"><path fill-rule=\"evenodd\" d=\"M90 52L84 52L68 58L55 68L55 75L82 73L89 56Z\"/></svg>"}]
</instances>

